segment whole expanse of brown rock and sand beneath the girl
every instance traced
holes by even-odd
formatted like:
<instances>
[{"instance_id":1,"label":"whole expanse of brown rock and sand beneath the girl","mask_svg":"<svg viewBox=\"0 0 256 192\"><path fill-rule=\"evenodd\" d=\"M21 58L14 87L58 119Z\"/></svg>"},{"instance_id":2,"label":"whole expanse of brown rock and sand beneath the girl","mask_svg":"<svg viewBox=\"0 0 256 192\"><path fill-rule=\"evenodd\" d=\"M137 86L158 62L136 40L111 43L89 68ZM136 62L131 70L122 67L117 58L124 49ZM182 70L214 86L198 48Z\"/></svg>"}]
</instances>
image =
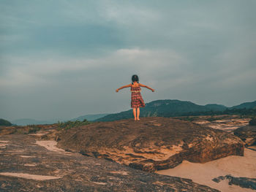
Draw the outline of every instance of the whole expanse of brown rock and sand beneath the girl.
<instances>
[{"instance_id":1,"label":"whole expanse of brown rock and sand beneath the girl","mask_svg":"<svg viewBox=\"0 0 256 192\"><path fill-rule=\"evenodd\" d=\"M255 138L254 132L238 135L244 142L233 135L237 128L248 126L249 118L178 119L186 118L121 120L68 130L58 124L0 127L0 191L252 190L256 178L252 152L256 150L246 148L244 155L244 145L247 137ZM166 170L151 173L157 169ZM165 171L171 177L161 175ZM232 186L221 188L224 180Z\"/></svg>"}]
</instances>

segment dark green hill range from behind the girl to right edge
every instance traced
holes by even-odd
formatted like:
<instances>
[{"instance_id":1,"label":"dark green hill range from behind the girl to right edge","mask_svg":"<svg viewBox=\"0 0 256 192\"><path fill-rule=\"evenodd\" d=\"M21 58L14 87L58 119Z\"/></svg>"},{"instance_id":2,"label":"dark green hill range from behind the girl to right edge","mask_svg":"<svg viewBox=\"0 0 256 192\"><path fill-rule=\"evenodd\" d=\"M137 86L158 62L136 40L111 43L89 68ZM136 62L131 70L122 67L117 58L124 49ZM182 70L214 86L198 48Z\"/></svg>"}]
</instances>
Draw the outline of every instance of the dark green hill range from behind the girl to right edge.
<instances>
[{"instance_id":1,"label":"dark green hill range from behind the girl to right edge","mask_svg":"<svg viewBox=\"0 0 256 192\"><path fill-rule=\"evenodd\" d=\"M246 108L247 111L243 109ZM222 114L255 114L256 101L239 104L234 107L225 107L222 104L198 105L191 101L157 100L140 108L140 117L176 117L187 115L222 115ZM133 118L132 110L106 115L94 121L112 121Z\"/></svg>"}]
</instances>

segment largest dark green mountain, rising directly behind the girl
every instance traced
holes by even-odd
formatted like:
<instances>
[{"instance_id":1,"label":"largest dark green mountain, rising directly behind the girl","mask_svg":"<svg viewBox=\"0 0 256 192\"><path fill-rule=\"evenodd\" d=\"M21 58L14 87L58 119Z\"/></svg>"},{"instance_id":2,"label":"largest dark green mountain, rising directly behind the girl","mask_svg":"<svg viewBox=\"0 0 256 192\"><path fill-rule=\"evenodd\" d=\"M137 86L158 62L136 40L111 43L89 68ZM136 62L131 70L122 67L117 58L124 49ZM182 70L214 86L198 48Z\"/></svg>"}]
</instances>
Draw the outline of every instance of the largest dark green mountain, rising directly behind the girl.
<instances>
[{"instance_id":1,"label":"largest dark green mountain, rising directly behind the girl","mask_svg":"<svg viewBox=\"0 0 256 192\"><path fill-rule=\"evenodd\" d=\"M174 117L186 115L189 112L209 112L224 111L227 107L220 104L207 104L205 106L194 104L191 101L179 100L157 100L146 104L144 108L140 108L140 117ZM132 118L132 110L119 112L116 114L106 115L95 121L112 121Z\"/></svg>"}]
</instances>

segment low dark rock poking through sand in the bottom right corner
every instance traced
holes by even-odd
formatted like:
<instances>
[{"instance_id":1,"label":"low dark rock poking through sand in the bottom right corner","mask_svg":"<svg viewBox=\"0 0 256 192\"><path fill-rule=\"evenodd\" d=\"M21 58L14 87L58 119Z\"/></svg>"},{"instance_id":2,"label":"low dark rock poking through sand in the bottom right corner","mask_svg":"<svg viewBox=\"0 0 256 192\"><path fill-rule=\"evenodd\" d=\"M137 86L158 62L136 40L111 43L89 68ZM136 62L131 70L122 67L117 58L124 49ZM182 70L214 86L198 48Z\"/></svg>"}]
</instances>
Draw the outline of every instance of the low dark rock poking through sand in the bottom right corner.
<instances>
[{"instance_id":1,"label":"low dark rock poking through sand in the bottom right corner","mask_svg":"<svg viewBox=\"0 0 256 192\"><path fill-rule=\"evenodd\" d=\"M229 185L238 185L241 188L252 188L256 190L256 179L247 177L233 177L232 175L219 176L213 181L219 183L222 180L228 180Z\"/></svg>"}]
</instances>

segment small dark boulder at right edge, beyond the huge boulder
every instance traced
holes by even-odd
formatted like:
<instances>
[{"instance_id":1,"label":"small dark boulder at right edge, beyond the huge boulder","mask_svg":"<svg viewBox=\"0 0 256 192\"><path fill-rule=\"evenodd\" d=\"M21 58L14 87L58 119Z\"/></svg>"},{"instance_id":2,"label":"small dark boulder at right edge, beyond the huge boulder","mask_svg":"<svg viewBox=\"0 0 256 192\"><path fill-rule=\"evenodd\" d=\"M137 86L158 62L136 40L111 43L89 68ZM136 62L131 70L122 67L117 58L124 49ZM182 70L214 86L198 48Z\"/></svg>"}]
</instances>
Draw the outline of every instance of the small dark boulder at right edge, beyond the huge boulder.
<instances>
[{"instance_id":1,"label":"small dark boulder at right edge, beyond the huge boulder","mask_svg":"<svg viewBox=\"0 0 256 192\"><path fill-rule=\"evenodd\" d=\"M237 128L234 134L240 137L246 143L246 146L256 145L256 126Z\"/></svg>"}]
</instances>

